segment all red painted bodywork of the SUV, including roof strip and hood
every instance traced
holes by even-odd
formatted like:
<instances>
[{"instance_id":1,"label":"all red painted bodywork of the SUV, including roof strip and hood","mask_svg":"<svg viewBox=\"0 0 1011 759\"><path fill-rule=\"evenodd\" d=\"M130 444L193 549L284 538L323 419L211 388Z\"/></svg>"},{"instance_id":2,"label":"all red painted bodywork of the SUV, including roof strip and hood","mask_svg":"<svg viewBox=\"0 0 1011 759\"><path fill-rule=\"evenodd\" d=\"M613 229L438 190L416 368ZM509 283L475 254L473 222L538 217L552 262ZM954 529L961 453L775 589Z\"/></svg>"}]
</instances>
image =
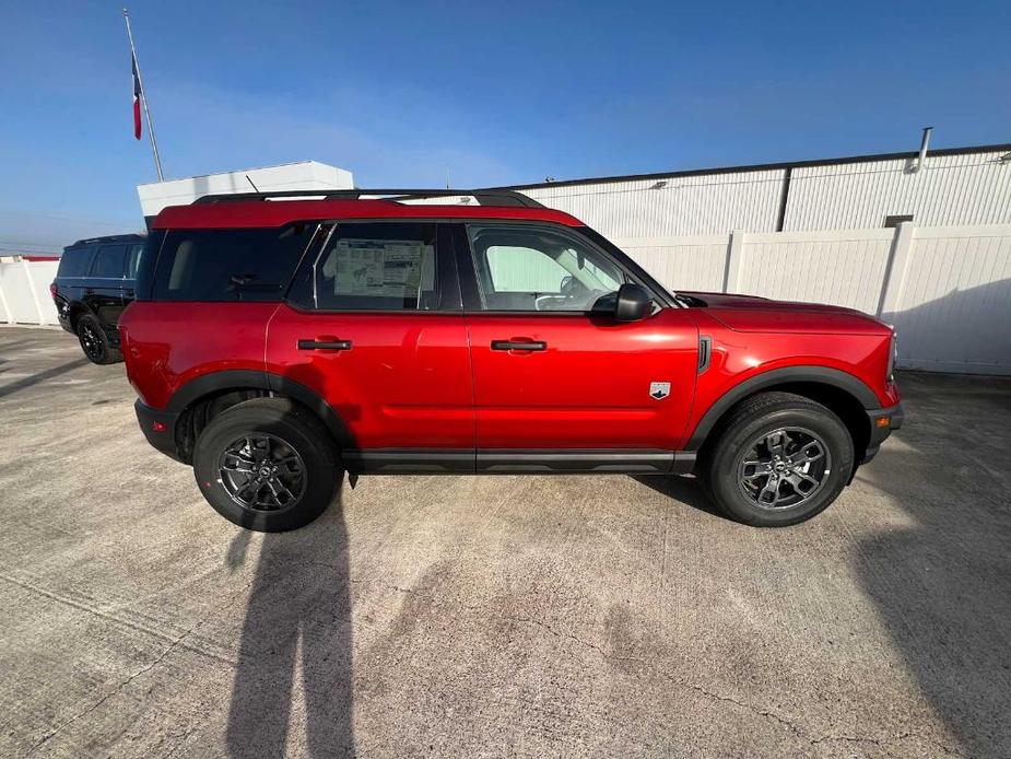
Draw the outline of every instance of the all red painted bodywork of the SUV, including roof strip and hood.
<instances>
[{"instance_id":1,"label":"all red painted bodywork of the SUV, including roof strip and hood","mask_svg":"<svg viewBox=\"0 0 1011 759\"><path fill-rule=\"evenodd\" d=\"M404 218L580 225L548 209L308 200L167 208L154 226ZM269 372L325 399L360 449L679 451L729 392L788 366L838 370L867 385L882 408L900 401L886 381L891 331L878 319L835 306L696 296L706 306L665 307L633 323L581 313L326 313L284 303L138 301L119 329L128 376L149 407L164 409L210 373ZM701 335L712 338L702 374ZM305 339L352 346L299 349ZM493 340L543 341L546 349L492 350ZM650 397L655 382L669 382L670 395Z\"/></svg>"}]
</instances>

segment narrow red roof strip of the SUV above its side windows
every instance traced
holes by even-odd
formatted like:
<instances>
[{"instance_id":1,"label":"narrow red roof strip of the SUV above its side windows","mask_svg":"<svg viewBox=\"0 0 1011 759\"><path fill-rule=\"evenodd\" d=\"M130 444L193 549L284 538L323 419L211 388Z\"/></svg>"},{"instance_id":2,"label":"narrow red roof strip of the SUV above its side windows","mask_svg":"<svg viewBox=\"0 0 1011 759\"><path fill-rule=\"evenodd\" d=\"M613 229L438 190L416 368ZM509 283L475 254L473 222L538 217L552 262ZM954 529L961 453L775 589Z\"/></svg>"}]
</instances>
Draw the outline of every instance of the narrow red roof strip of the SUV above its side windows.
<instances>
[{"instance_id":1,"label":"narrow red roof strip of the SUV above its side windows","mask_svg":"<svg viewBox=\"0 0 1011 759\"><path fill-rule=\"evenodd\" d=\"M548 208L415 206L387 200L272 200L163 209L153 229L272 227L317 219L519 219L583 226L574 217Z\"/></svg>"}]
</instances>

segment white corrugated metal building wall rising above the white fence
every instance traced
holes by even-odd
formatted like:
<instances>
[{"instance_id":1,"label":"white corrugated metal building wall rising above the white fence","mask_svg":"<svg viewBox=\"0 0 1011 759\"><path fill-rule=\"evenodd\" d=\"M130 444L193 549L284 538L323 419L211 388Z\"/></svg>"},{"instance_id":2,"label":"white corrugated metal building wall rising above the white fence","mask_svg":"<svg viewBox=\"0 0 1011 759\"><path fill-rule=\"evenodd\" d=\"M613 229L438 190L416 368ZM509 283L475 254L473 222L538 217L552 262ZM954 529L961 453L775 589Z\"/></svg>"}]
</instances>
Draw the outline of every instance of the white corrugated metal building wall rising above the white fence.
<instances>
[{"instance_id":1,"label":"white corrugated metal building wall rising above the white fence","mask_svg":"<svg viewBox=\"0 0 1011 759\"><path fill-rule=\"evenodd\" d=\"M827 163L790 170L784 231L881 227L887 215L916 224L1011 223L1007 151ZM608 237L774 232L786 168L612 179L520 188Z\"/></svg>"}]
</instances>

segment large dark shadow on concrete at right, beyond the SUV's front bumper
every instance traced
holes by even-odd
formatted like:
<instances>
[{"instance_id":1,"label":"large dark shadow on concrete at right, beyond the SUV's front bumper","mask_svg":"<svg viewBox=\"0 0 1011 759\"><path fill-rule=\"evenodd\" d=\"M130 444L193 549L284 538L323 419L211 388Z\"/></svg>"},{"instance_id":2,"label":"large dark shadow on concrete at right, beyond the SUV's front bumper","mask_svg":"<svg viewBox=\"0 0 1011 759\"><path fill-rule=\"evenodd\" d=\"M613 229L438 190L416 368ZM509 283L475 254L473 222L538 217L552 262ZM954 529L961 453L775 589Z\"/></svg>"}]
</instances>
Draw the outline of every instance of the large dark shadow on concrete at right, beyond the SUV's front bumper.
<instances>
[{"instance_id":1,"label":"large dark shadow on concrete at right, beyond the SUV's front bumper","mask_svg":"<svg viewBox=\"0 0 1011 759\"><path fill-rule=\"evenodd\" d=\"M1011 756L1011 382L900 378L906 427L858 477L910 526L858 544L857 573L924 694L971 756ZM898 443L902 443L900 445Z\"/></svg>"}]
</instances>

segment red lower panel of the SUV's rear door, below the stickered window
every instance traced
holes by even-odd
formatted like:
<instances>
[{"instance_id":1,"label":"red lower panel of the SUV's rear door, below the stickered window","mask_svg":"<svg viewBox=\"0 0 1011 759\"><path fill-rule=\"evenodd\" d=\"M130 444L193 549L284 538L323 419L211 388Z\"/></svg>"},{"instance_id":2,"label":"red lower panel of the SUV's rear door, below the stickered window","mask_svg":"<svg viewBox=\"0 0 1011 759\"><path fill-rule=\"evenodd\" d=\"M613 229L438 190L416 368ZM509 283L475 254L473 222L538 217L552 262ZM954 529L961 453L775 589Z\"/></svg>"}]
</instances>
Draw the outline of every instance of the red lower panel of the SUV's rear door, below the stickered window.
<instances>
[{"instance_id":1,"label":"red lower panel of the SUV's rear door, below the stickered window","mask_svg":"<svg viewBox=\"0 0 1011 759\"><path fill-rule=\"evenodd\" d=\"M299 339L351 350L299 350ZM470 350L462 314L301 312L270 322L267 371L315 390L358 448L473 448Z\"/></svg>"}]
</instances>

